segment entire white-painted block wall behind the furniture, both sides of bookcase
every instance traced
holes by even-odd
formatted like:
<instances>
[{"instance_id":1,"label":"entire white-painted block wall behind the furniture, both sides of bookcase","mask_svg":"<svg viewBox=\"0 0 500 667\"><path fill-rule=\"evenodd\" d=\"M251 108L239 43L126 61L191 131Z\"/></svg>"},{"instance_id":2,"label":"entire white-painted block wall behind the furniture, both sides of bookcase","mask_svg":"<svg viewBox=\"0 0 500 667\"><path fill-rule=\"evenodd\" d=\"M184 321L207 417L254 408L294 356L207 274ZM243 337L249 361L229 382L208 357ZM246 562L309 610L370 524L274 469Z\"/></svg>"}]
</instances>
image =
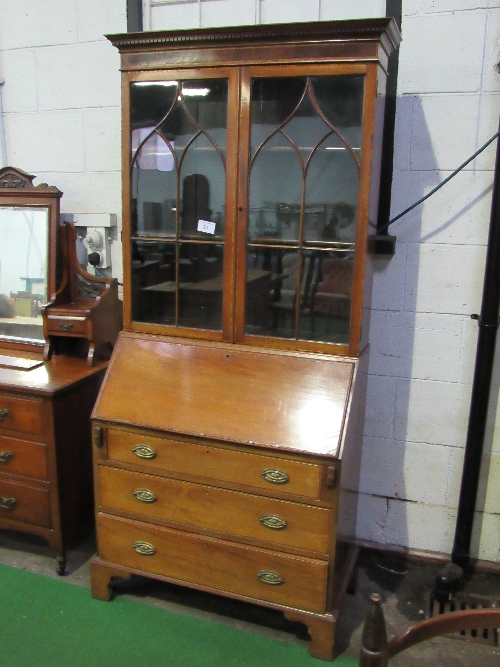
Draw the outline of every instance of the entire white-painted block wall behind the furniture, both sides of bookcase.
<instances>
[{"instance_id":1,"label":"entire white-painted block wall behind the furniture, both sides of bookcase","mask_svg":"<svg viewBox=\"0 0 500 667\"><path fill-rule=\"evenodd\" d=\"M385 0L143 0L145 29L383 16ZM119 58L126 0L0 0L10 164L64 192L67 213L120 204ZM392 214L491 137L500 0L403 0ZM449 554L469 412L495 144L391 227L377 260L357 533ZM121 278L119 236L113 275ZM500 559L500 360L472 555Z\"/></svg>"}]
</instances>

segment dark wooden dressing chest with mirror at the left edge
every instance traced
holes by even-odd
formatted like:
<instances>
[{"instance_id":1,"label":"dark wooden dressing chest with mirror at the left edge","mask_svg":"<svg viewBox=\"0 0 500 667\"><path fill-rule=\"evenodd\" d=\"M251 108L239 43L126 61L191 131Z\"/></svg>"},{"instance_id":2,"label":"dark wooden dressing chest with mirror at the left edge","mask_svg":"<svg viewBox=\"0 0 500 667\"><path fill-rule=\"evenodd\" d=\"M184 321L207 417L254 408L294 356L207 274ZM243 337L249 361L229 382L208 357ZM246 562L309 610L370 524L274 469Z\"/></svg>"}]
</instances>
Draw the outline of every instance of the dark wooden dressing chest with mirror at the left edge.
<instances>
[{"instance_id":1,"label":"dark wooden dressing chest with mirror at the left edge","mask_svg":"<svg viewBox=\"0 0 500 667\"><path fill-rule=\"evenodd\" d=\"M0 170L0 529L47 540L63 574L92 518L90 413L121 310L116 280L78 264L62 193L33 179Z\"/></svg>"}]
</instances>

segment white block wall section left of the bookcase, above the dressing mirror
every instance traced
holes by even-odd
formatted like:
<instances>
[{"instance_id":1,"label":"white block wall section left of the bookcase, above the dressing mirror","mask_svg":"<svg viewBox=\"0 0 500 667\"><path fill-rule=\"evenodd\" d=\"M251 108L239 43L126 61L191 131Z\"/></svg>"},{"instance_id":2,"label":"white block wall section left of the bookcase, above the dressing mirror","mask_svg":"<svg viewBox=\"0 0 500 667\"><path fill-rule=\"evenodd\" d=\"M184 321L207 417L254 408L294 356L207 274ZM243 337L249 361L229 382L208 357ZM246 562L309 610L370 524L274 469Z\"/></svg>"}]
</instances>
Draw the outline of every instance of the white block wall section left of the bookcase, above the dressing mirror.
<instances>
[{"instance_id":1,"label":"white block wall section left of the bookcase, above the dressing mirror","mask_svg":"<svg viewBox=\"0 0 500 667\"><path fill-rule=\"evenodd\" d=\"M125 0L0 0L0 17L8 164L62 190L63 213L115 214L120 227L120 61L104 35L126 31Z\"/></svg>"}]
</instances>

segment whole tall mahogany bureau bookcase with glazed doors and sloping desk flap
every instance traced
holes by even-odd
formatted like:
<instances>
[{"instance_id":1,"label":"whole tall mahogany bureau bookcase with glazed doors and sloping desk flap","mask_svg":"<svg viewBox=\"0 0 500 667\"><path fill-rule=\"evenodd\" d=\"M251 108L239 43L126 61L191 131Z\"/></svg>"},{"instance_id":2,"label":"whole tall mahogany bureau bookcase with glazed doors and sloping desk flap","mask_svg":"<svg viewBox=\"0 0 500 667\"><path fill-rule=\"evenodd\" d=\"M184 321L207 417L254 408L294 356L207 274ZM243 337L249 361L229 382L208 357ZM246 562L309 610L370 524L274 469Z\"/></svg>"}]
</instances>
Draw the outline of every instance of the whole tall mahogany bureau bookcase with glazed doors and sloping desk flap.
<instances>
[{"instance_id":1,"label":"whole tall mahogany bureau bookcase with glazed doors and sloping desk flap","mask_svg":"<svg viewBox=\"0 0 500 667\"><path fill-rule=\"evenodd\" d=\"M124 331L93 411L92 594L136 573L266 605L332 659L399 34L377 19L109 39Z\"/></svg>"}]
</instances>

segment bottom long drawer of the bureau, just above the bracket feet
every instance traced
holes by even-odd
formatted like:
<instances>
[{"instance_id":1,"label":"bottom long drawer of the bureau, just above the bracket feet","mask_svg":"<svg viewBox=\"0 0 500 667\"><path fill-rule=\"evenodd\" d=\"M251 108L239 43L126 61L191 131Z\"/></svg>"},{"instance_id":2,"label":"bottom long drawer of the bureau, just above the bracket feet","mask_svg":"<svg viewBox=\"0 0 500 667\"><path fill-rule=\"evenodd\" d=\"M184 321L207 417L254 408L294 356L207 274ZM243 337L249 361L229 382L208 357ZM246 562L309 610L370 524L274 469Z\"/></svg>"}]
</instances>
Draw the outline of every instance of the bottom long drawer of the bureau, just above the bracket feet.
<instances>
[{"instance_id":1,"label":"bottom long drawer of the bureau, just above the bracket feet","mask_svg":"<svg viewBox=\"0 0 500 667\"><path fill-rule=\"evenodd\" d=\"M326 611L328 563L325 561L105 514L98 517L98 536L99 555L111 563L255 600L316 613Z\"/></svg>"}]
</instances>

